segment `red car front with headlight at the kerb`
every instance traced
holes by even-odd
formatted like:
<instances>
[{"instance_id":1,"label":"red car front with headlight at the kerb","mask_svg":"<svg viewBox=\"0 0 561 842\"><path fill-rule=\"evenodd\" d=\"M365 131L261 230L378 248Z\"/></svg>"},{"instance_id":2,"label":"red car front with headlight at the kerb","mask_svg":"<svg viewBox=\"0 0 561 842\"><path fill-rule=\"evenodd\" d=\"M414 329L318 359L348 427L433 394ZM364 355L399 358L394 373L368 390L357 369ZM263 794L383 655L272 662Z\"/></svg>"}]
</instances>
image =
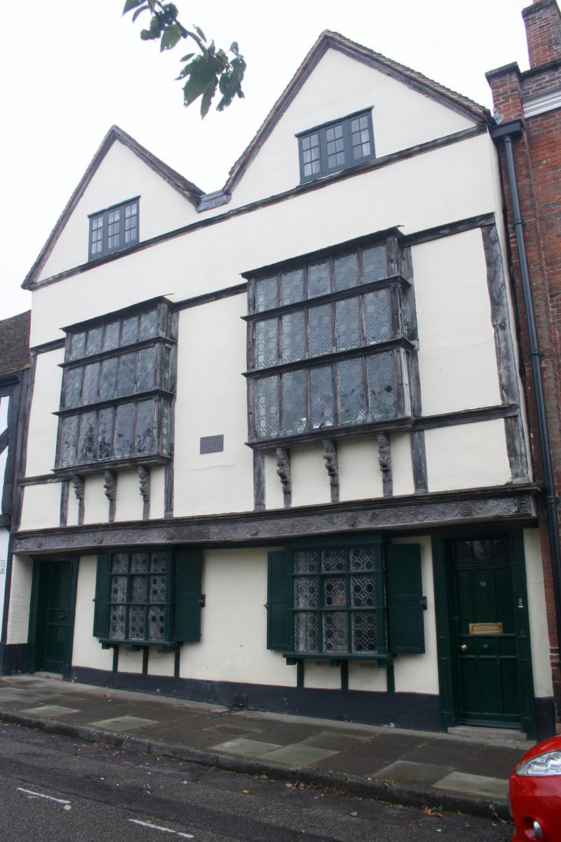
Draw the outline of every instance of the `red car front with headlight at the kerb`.
<instances>
[{"instance_id":1,"label":"red car front with headlight at the kerb","mask_svg":"<svg viewBox=\"0 0 561 842\"><path fill-rule=\"evenodd\" d=\"M561 842L561 736L537 743L512 770L512 842Z\"/></svg>"}]
</instances>

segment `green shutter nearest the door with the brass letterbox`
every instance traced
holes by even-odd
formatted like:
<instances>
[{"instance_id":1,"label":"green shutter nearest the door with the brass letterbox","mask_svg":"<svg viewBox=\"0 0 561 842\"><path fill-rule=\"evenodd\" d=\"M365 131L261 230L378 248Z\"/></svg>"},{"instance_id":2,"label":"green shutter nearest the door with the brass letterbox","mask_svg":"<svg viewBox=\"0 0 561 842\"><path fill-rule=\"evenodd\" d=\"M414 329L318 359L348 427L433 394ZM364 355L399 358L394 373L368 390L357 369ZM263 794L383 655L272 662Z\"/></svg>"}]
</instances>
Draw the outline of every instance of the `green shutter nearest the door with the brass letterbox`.
<instances>
[{"instance_id":1,"label":"green shutter nearest the door with the brass letterbox","mask_svg":"<svg viewBox=\"0 0 561 842\"><path fill-rule=\"evenodd\" d=\"M388 650L425 652L421 545L392 544L387 552Z\"/></svg>"}]
</instances>

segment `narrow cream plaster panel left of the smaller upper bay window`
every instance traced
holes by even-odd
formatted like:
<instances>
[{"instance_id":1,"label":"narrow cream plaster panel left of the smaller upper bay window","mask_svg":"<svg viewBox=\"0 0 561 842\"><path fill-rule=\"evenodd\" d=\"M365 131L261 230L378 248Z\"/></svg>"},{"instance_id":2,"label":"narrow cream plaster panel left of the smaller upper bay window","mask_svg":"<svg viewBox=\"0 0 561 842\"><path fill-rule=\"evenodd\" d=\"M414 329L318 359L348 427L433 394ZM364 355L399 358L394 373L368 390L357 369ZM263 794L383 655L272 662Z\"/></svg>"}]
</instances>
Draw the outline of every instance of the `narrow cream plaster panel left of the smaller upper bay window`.
<instances>
[{"instance_id":1,"label":"narrow cream plaster panel left of the smaller upper bay window","mask_svg":"<svg viewBox=\"0 0 561 842\"><path fill-rule=\"evenodd\" d=\"M63 359L63 349L37 356L29 413L26 477L48 474L55 466L58 418L52 413L58 410L61 402L62 369L59 364Z\"/></svg>"}]
</instances>

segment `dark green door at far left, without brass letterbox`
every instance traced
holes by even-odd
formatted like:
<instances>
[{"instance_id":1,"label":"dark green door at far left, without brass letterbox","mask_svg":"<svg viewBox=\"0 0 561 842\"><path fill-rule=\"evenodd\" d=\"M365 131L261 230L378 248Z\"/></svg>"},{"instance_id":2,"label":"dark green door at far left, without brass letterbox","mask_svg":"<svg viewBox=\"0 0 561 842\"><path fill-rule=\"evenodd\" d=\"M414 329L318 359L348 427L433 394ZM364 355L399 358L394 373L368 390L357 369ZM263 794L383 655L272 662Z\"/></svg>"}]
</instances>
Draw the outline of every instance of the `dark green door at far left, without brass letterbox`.
<instances>
[{"instance_id":1,"label":"dark green door at far left, without brass letterbox","mask_svg":"<svg viewBox=\"0 0 561 842\"><path fill-rule=\"evenodd\" d=\"M54 559L34 564L34 610L30 635L34 670L70 672L76 580L76 561Z\"/></svg>"}]
</instances>

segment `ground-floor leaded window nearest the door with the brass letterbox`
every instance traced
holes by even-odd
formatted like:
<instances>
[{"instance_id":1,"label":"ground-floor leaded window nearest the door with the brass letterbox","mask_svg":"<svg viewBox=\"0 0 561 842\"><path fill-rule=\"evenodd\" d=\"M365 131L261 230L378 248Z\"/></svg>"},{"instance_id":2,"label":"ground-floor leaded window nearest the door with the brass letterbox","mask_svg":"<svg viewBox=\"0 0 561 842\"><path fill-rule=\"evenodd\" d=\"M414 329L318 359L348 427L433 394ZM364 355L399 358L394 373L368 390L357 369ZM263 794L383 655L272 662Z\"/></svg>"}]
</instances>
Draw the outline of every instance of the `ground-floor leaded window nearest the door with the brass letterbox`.
<instances>
[{"instance_id":1,"label":"ground-floor leaded window nearest the door with the brass letterbox","mask_svg":"<svg viewBox=\"0 0 561 842\"><path fill-rule=\"evenodd\" d=\"M379 545L294 550L292 592L294 653L385 653Z\"/></svg>"}]
</instances>

